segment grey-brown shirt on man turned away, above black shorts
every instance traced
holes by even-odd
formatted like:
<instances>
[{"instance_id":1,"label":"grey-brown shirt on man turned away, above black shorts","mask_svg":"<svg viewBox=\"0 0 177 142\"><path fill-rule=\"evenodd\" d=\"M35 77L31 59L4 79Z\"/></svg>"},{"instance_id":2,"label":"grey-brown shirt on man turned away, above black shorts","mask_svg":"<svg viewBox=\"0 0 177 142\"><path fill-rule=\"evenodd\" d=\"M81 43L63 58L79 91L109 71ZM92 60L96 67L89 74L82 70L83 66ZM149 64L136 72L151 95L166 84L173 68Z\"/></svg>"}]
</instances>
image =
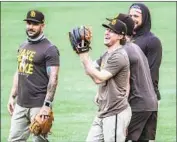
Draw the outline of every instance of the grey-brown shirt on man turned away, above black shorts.
<instances>
[{"instance_id":1,"label":"grey-brown shirt on man turned away, above black shorts","mask_svg":"<svg viewBox=\"0 0 177 142\"><path fill-rule=\"evenodd\" d=\"M157 97L153 88L148 61L134 43L124 46L130 61L129 103L132 111L157 111Z\"/></svg>"}]
</instances>

